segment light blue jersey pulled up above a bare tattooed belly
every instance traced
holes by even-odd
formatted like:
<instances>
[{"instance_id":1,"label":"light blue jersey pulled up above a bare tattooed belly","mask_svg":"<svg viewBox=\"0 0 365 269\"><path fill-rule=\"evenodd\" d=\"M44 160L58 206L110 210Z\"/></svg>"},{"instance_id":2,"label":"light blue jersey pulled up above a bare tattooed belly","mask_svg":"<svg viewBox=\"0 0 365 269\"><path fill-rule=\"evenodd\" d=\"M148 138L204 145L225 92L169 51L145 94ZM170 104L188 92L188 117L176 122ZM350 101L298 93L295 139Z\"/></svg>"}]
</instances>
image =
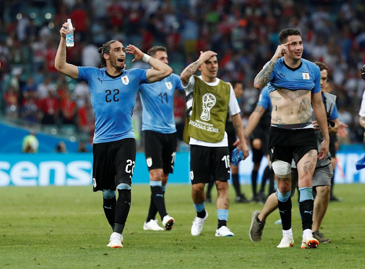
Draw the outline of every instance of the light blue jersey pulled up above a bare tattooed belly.
<instances>
[{"instance_id":1,"label":"light blue jersey pulled up above a bare tattooed belly","mask_svg":"<svg viewBox=\"0 0 365 269\"><path fill-rule=\"evenodd\" d=\"M270 91L277 88L288 90L310 90L312 93L321 90L321 72L319 67L306 60L301 59L301 64L293 69L284 62L284 57L279 58L270 76Z\"/></svg>"}]
</instances>

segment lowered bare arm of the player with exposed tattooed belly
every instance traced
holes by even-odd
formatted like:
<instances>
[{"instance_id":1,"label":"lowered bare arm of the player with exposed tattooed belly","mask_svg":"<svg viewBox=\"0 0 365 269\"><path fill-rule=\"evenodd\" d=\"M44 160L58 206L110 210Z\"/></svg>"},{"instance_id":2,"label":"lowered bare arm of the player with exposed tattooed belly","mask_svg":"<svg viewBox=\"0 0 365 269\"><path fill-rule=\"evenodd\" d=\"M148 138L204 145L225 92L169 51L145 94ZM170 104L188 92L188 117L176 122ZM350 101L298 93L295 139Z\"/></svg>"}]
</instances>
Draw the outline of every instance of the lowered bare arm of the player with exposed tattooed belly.
<instances>
[{"instance_id":1,"label":"lowered bare arm of the player with exposed tattooed belly","mask_svg":"<svg viewBox=\"0 0 365 269\"><path fill-rule=\"evenodd\" d=\"M321 92L312 93L311 99L312 99L314 117L316 118L319 128L321 129L323 135L323 142L318 152L318 159L322 160L323 158L326 157L329 151L329 131L328 131L326 109L322 101Z\"/></svg>"}]
</instances>

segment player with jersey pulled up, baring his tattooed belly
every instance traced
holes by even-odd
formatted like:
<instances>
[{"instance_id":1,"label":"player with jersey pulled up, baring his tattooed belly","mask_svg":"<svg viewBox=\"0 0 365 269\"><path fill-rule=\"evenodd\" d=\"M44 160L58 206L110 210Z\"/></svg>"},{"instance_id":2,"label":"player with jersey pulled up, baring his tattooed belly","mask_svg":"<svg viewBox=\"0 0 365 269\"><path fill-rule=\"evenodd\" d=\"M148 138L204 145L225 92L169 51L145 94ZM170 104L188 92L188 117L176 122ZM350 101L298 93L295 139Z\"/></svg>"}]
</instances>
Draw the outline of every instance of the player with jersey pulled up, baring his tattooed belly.
<instances>
[{"instance_id":1,"label":"player with jersey pulled up, baring his tattooed belly","mask_svg":"<svg viewBox=\"0 0 365 269\"><path fill-rule=\"evenodd\" d=\"M277 178L278 206L283 226L279 248L290 247L292 236L291 163L298 169L299 209L302 217L302 248L316 248L313 238L312 176L317 158L322 160L329 151L326 111L320 93L320 70L302 58L303 41L297 29L279 33L280 45L272 59L256 75L254 86L261 90L270 82L272 101L268 146ZM319 152L311 123L311 106L324 136Z\"/></svg>"}]
</instances>

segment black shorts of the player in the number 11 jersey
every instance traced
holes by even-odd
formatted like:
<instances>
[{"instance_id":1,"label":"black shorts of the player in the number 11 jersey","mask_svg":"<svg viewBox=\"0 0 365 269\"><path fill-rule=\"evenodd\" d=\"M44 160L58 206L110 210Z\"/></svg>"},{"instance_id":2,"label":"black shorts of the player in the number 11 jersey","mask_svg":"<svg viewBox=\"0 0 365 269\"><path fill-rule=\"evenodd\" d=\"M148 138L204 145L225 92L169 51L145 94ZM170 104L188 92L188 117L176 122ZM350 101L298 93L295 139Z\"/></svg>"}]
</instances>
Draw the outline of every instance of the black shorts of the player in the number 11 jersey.
<instances>
[{"instance_id":1,"label":"black shorts of the player in the number 11 jersey","mask_svg":"<svg viewBox=\"0 0 365 269\"><path fill-rule=\"evenodd\" d=\"M145 142L145 156L148 171L164 169L164 173L174 171L176 156L176 133L163 134L155 131L142 131Z\"/></svg>"}]
</instances>

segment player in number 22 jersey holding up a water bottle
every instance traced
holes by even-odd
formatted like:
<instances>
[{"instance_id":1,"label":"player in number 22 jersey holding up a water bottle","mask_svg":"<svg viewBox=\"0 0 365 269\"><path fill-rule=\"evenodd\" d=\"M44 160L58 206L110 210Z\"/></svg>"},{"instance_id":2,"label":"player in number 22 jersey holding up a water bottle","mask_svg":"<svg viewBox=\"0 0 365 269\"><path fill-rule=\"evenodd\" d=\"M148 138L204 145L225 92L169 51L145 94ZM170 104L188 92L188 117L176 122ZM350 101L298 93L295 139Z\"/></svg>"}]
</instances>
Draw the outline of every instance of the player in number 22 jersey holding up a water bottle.
<instances>
[{"instance_id":1,"label":"player in number 22 jersey holding up a water bottle","mask_svg":"<svg viewBox=\"0 0 365 269\"><path fill-rule=\"evenodd\" d=\"M99 48L104 68L77 67L66 62L66 34L68 23L60 29L60 42L55 56L55 68L80 81L86 81L91 92L95 115L92 148L93 191L103 192L103 207L113 233L111 248L123 248L123 229L130 208L130 190L136 158L136 143L132 129L132 112L138 88L169 76L172 69L137 47L127 48L117 40L110 40ZM73 28L74 30L74 28ZM134 61L143 60L151 69L124 70L126 53ZM118 189L118 200L115 194Z\"/></svg>"}]
</instances>

